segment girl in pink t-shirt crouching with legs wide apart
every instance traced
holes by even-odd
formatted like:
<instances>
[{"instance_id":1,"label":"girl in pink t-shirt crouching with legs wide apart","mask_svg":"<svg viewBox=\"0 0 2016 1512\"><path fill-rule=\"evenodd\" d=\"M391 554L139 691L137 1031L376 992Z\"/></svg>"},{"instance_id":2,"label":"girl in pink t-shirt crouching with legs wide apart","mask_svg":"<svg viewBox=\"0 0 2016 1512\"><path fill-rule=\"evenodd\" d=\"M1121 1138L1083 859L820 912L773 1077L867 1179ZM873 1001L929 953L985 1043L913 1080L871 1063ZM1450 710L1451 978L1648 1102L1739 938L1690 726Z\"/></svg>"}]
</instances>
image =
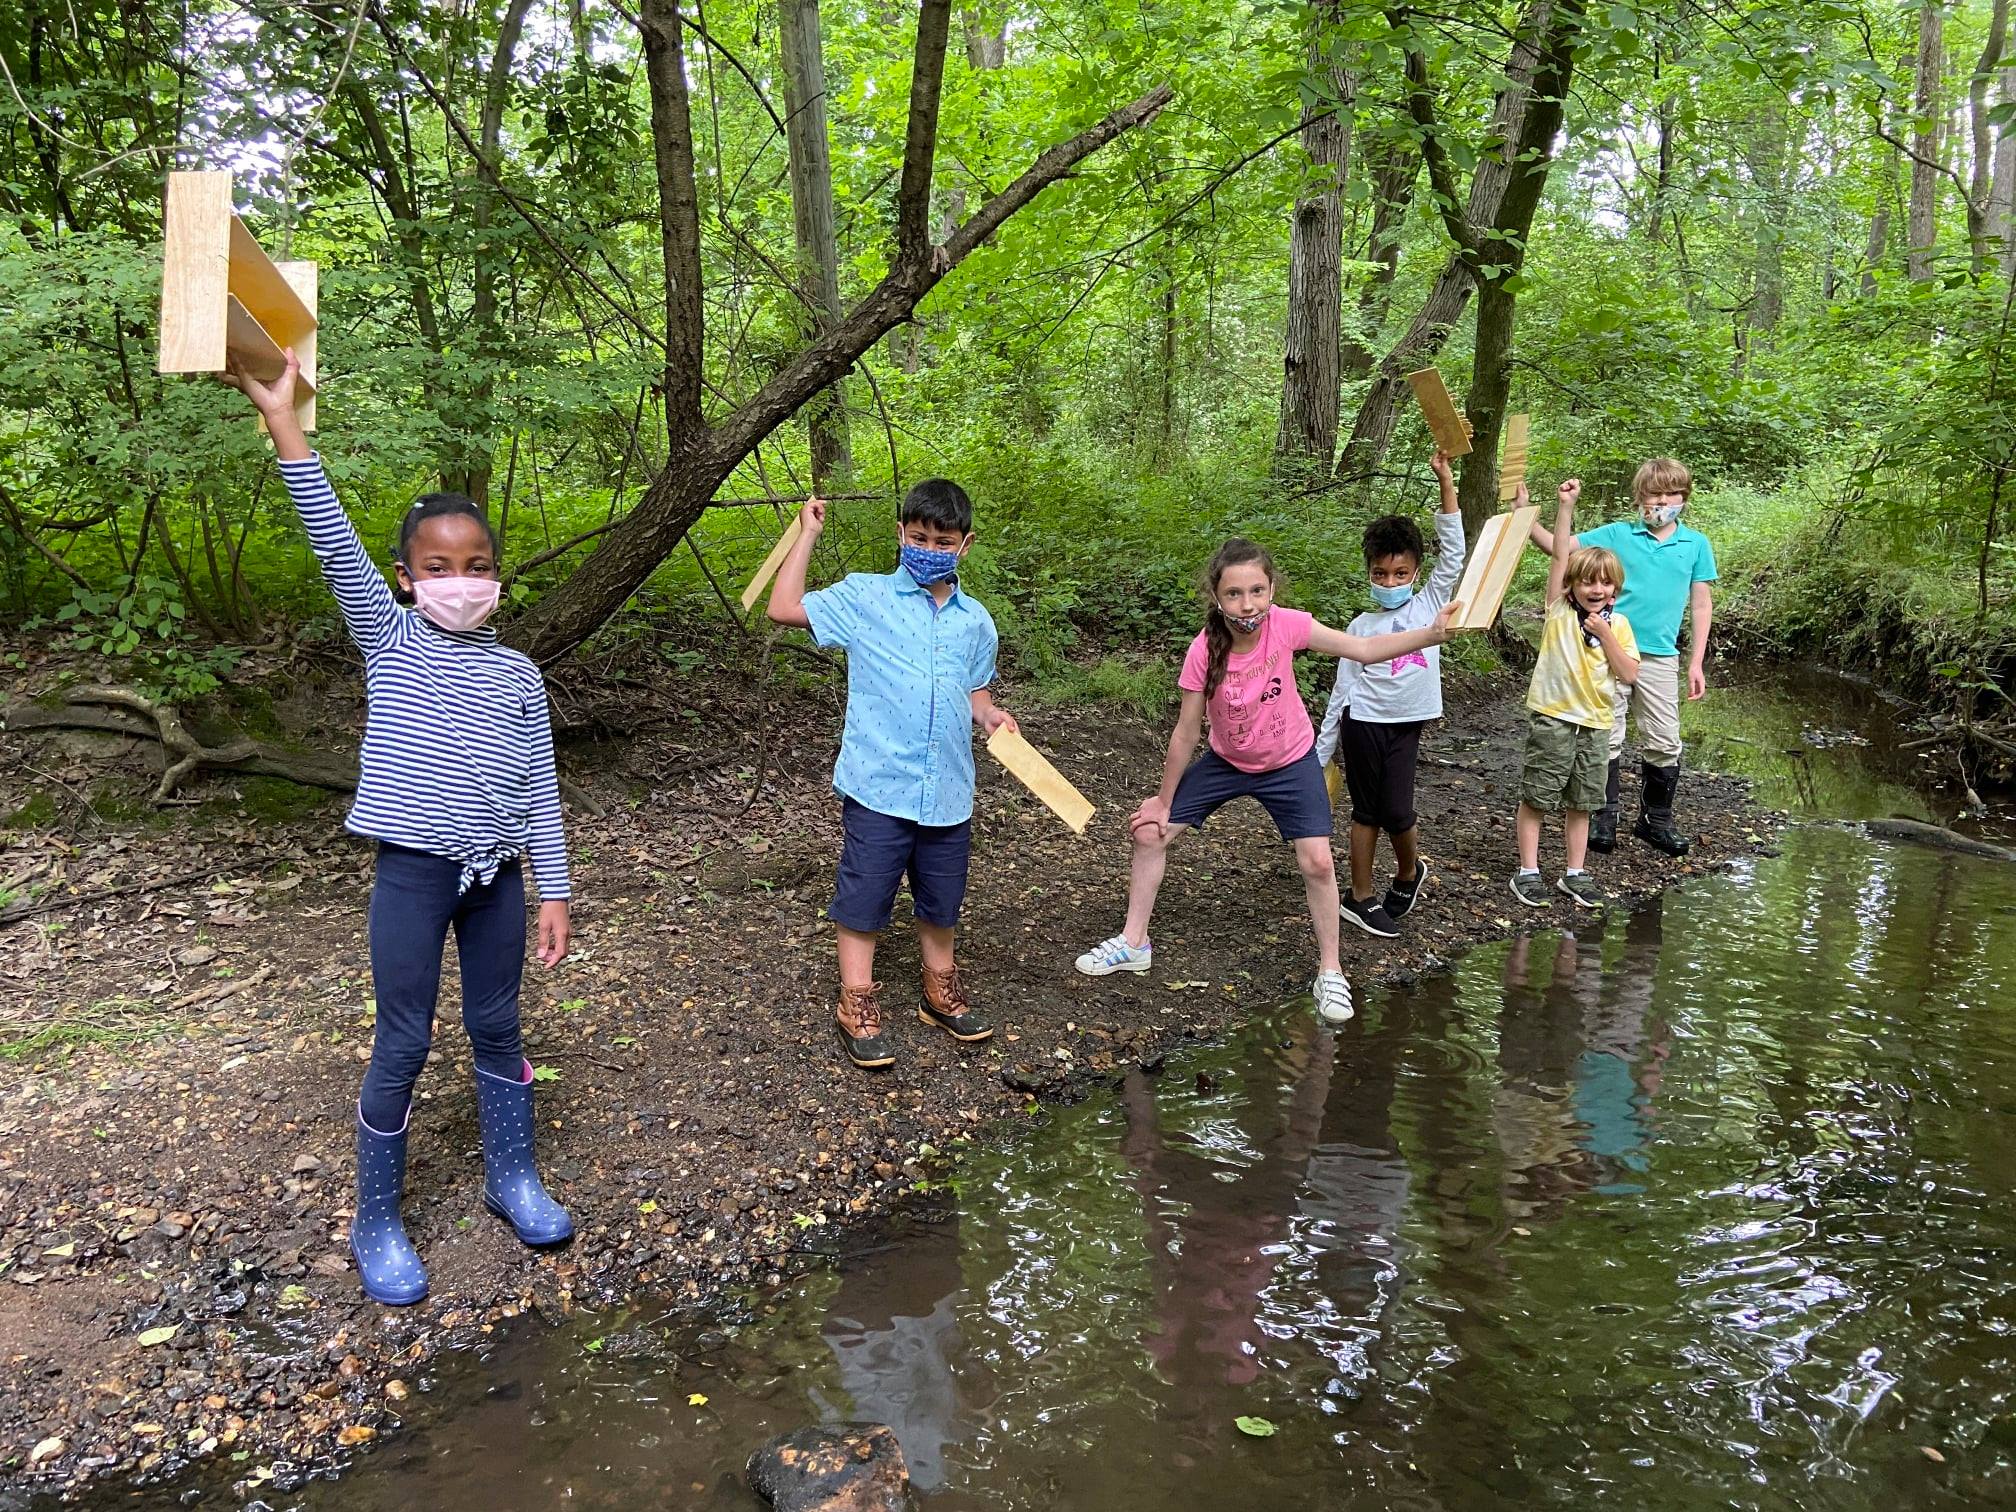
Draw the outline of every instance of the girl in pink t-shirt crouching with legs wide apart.
<instances>
[{"instance_id":1,"label":"girl in pink t-shirt crouching with legs wide apart","mask_svg":"<svg viewBox=\"0 0 2016 1512\"><path fill-rule=\"evenodd\" d=\"M1145 972L1155 960L1147 921L1167 867L1169 843L1202 825L1232 798L1250 796L1274 816L1294 847L1316 925L1316 1010L1341 1024L1351 1018L1351 986L1337 962L1337 863L1331 857L1331 796L1316 762L1316 730L1294 683L1294 653L1391 661L1450 639L1450 605L1433 625L1401 635L1345 635L1300 609L1274 607L1274 558L1250 540L1228 540L1212 556L1204 585L1204 629L1183 657L1183 712L1169 736L1161 788L1135 808L1133 877L1127 925L1079 956L1087 976ZM1212 748L1195 762L1210 716Z\"/></svg>"}]
</instances>

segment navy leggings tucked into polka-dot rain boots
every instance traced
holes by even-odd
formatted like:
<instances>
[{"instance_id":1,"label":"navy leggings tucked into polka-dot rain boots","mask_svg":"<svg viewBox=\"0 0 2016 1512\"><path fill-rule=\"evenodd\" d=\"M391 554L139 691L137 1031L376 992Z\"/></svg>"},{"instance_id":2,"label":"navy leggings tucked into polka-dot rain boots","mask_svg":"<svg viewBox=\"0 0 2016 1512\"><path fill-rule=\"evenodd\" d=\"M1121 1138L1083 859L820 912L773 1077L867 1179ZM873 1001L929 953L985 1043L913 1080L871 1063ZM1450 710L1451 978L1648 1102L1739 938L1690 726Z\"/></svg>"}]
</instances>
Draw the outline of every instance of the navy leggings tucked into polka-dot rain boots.
<instances>
[{"instance_id":1,"label":"navy leggings tucked into polka-dot rain boots","mask_svg":"<svg viewBox=\"0 0 2016 1512\"><path fill-rule=\"evenodd\" d=\"M413 1083L433 1042L442 950L456 929L462 1026L480 1070L518 1081L518 982L524 978L524 873L508 861L486 885L456 895L462 865L425 851L381 845L371 885L371 984L377 1032L357 1109L379 1133L405 1125Z\"/></svg>"}]
</instances>

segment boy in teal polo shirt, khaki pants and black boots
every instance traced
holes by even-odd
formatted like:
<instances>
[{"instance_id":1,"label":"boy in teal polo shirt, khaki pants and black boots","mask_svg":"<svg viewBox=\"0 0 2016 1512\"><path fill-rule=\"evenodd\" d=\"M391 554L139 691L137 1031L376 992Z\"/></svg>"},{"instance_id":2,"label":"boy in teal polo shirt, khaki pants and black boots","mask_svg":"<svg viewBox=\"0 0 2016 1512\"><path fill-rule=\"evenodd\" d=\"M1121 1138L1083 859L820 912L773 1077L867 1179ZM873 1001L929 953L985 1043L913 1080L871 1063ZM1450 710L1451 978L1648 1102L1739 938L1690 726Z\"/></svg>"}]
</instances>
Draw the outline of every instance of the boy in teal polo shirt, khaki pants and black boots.
<instances>
[{"instance_id":1,"label":"boy in teal polo shirt, khaki pants and black boots","mask_svg":"<svg viewBox=\"0 0 2016 1512\"><path fill-rule=\"evenodd\" d=\"M1617 613L1637 631L1639 675L1617 685L1611 724L1609 798L1591 825L1589 849L1617 849L1617 786L1625 750L1625 716L1639 734L1639 823L1631 833L1665 855L1687 855L1687 839L1673 829L1673 794L1679 790L1679 621L1693 617L1687 655L1687 700L1708 691L1708 629L1714 623L1716 548L1708 536L1679 522L1693 494L1693 474L1673 458L1653 458L1631 480L1637 520L1585 530L1570 544L1607 546L1625 569ZM1534 544L1554 550L1554 536L1536 520Z\"/></svg>"}]
</instances>

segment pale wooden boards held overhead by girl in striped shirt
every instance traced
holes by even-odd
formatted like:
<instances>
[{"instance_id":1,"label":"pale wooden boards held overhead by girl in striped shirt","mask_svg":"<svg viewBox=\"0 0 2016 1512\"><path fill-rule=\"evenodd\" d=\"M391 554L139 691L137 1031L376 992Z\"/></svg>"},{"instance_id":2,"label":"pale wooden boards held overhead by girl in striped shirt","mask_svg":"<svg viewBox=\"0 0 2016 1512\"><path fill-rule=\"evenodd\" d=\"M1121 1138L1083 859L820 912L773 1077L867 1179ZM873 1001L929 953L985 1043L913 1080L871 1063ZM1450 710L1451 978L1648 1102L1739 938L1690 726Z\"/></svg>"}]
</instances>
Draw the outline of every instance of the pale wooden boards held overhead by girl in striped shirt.
<instances>
[{"instance_id":1,"label":"pale wooden boards held overhead by girl in striped shirt","mask_svg":"<svg viewBox=\"0 0 2016 1512\"><path fill-rule=\"evenodd\" d=\"M232 212L232 175L169 173L161 222L159 373L224 373L232 361L258 379L300 359L294 409L314 429L312 262L276 264Z\"/></svg>"}]
</instances>

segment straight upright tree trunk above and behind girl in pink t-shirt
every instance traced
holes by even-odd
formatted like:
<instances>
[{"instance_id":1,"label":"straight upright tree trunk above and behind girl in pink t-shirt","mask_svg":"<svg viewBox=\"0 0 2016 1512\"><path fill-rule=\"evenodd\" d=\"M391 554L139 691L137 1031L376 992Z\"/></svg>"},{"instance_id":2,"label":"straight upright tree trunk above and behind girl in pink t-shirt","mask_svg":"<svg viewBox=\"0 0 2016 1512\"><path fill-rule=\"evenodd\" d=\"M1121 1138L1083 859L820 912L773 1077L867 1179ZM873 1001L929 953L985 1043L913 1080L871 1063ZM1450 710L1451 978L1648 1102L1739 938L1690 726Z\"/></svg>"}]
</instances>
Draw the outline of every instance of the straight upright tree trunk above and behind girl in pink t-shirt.
<instances>
[{"instance_id":1,"label":"straight upright tree trunk above and behind girl in pink t-shirt","mask_svg":"<svg viewBox=\"0 0 2016 1512\"><path fill-rule=\"evenodd\" d=\"M1310 181L1294 202L1288 230L1288 335L1282 351L1276 470L1320 464L1337 454L1339 321L1343 317L1345 177L1351 171L1351 109L1357 79L1337 36L1337 0L1310 18L1308 75L1325 97L1302 103L1302 151Z\"/></svg>"}]
</instances>

